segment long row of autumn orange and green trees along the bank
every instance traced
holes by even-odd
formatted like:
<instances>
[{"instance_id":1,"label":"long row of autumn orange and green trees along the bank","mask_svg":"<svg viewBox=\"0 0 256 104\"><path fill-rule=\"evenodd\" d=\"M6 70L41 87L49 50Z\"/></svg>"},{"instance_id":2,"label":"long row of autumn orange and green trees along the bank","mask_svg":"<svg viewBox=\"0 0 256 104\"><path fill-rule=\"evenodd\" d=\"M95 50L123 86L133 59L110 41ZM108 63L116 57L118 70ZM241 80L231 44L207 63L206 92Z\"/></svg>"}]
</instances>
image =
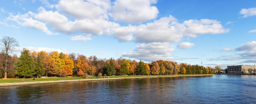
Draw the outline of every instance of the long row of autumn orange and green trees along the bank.
<instances>
[{"instance_id":1,"label":"long row of autumn orange and green trees along the bank","mask_svg":"<svg viewBox=\"0 0 256 104\"><path fill-rule=\"evenodd\" d=\"M40 77L40 76L82 76L98 73L111 75L173 75L173 74L207 74L212 73L210 67L178 64L173 61L157 60L148 63L123 59L98 59L96 56L86 57L75 53L59 53L53 51L30 52L23 49L20 57L8 55L7 78ZM0 54L0 77L4 76L5 54Z\"/></svg>"}]
</instances>

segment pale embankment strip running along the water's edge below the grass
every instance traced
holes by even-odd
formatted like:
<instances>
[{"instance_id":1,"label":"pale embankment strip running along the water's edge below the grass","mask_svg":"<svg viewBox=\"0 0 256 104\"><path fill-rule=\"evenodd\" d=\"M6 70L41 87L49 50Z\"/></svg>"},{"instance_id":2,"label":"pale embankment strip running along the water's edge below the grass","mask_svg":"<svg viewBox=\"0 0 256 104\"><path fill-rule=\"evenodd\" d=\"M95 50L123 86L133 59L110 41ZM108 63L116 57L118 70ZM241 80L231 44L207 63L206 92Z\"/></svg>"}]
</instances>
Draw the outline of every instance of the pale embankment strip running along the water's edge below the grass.
<instances>
[{"instance_id":1,"label":"pale embankment strip running along the water's edge below the grass","mask_svg":"<svg viewBox=\"0 0 256 104\"><path fill-rule=\"evenodd\" d=\"M100 79L77 79L77 80L56 80L56 81L36 81L36 82L24 82L24 83L5 83L0 84L1 86L17 86L17 85L34 85L34 84L50 84L50 83L65 83L65 82L76 82L76 81L91 81L91 80L114 80L114 79L133 79L133 78L154 78L154 77L187 77L187 76L212 76L211 75L185 75L185 76L150 76L150 77L125 77L125 78L100 78Z\"/></svg>"}]
</instances>

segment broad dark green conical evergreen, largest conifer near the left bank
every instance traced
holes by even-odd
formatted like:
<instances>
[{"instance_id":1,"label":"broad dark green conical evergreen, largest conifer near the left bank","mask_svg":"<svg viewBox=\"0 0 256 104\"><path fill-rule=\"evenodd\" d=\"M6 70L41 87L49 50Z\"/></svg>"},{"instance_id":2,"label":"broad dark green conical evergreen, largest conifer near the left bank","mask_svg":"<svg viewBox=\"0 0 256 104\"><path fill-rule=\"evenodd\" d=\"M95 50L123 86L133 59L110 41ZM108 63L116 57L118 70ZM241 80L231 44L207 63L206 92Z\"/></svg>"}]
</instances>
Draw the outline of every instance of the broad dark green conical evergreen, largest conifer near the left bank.
<instances>
[{"instance_id":1,"label":"broad dark green conical evergreen, largest conifer near the left bank","mask_svg":"<svg viewBox=\"0 0 256 104\"><path fill-rule=\"evenodd\" d=\"M23 49L16 67L18 76L23 76L23 78L33 77L35 74L35 64L29 50Z\"/></svg>"}]
</instances>

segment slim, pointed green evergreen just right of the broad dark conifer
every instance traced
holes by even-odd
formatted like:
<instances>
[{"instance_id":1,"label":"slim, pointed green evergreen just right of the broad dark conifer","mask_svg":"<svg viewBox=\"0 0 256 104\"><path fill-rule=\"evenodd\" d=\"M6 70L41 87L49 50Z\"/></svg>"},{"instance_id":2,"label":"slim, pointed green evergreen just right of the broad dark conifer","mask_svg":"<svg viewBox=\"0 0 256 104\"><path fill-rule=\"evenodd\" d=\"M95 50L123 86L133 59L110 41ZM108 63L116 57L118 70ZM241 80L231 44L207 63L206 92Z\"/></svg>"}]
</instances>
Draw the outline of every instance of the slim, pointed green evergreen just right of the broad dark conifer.
<instances>
[{"instance_id":1,"label":"slim, pointed green evergreen just right of the broad dark conifer","mask_svg":"<svg viewBox=\"0 0 256 104\"><path fill-rule=\"evenodd\" d=\"M38 76L44 75L45 68L43 67L43 62L41 61L41 56L40 55L37 55L36 62L35 62L35 67L36 67L35 72L36 72L37 78L38 78Z\"/></svg>"}]
</instances>

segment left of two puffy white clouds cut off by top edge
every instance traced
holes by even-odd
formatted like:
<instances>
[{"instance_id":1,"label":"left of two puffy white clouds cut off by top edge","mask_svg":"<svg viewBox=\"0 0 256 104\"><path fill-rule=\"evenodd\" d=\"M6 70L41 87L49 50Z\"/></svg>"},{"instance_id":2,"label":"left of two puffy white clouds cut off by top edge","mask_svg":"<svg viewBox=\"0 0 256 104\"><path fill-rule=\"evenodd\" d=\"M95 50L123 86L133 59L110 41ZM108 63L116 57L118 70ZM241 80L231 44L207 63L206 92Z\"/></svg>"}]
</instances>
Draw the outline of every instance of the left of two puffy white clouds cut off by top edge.
<instances>
[{"instance_id":1,"label":"left of two puffy white clouds cut off by top edge","mask_svg":"<svg viewBox=\"0 0 256 104\"><path fill-rule=\"evenodd\" d=\"M56 8L69 16L80 19L108 19L107 11L111 7L109 0L61 0Z\"/></svg>"}]
</instances>

